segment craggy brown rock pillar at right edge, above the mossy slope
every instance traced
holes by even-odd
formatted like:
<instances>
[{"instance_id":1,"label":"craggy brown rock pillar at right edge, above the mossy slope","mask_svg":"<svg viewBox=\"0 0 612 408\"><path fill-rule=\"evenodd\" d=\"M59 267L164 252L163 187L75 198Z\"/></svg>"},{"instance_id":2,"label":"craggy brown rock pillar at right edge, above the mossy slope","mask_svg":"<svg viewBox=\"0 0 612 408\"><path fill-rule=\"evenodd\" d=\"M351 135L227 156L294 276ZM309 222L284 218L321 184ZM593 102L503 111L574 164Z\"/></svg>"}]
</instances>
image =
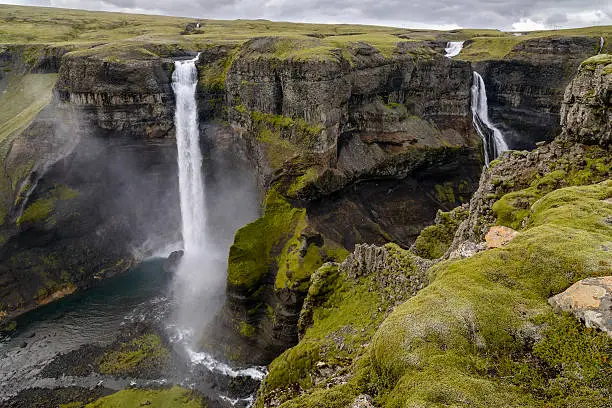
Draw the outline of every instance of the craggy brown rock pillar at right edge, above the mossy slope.
<instances>
[{"instance_id":1,"label":"craggy brown rock pillar at right edge, above the mossy slope","mask_svg":"<svg viewBox=\"0 0 612 408\"><path fill-rule=\"evenodd\" d=\"M586 60L565 91L561 138L570 142L612 144L612 55Z\"/></svg>"}]
</instances>

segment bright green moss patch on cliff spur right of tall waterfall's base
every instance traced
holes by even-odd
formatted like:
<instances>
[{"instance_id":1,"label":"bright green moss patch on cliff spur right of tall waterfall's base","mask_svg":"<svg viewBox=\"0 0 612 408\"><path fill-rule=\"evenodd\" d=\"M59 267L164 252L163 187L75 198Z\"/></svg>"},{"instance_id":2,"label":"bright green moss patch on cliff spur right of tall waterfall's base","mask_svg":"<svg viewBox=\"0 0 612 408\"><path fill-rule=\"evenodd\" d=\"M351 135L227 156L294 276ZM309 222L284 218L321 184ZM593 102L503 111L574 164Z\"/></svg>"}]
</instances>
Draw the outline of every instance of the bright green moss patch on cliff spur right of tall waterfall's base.
<instances>
[{"instance_id":1,"label":"bright green moss patch on cliff spur right of tall waterfall's base","mask_svg":"<svg viewBox=\"0 0 612 408\"><path fill-rule=\"evenodd\" d=\"M271 189L263 217L236 233L229 253L229 284L251 293L257 290L274 260L272 250L284 246L304 215L304 209L293 208L278 191Z\"/></svg>"}]
</instances>

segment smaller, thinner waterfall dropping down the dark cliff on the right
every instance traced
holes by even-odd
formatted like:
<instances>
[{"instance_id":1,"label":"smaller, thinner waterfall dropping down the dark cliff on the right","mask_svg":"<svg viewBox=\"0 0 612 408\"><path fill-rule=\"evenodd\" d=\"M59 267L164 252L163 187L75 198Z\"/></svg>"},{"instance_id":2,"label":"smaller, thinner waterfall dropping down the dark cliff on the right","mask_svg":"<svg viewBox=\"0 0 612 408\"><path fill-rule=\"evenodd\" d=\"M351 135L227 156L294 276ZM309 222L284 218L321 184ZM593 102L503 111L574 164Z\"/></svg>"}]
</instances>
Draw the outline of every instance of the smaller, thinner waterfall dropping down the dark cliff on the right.
<instances>
[{"instance_id":1,"label":"smaller, thinner waterfall dropping down the dark cliff on the right","mask_svg":"<svg viewBox=\"0 0 612 408\"><path fill-rule=\"evenodd\" d=\"M501 131L489 121L489 106L487 104L487 91L482 76L476 71L473 73L472 85L472 121L476 132L482 138L485 152L485 164L508 150Z\"/></svg>"}]
</instances>

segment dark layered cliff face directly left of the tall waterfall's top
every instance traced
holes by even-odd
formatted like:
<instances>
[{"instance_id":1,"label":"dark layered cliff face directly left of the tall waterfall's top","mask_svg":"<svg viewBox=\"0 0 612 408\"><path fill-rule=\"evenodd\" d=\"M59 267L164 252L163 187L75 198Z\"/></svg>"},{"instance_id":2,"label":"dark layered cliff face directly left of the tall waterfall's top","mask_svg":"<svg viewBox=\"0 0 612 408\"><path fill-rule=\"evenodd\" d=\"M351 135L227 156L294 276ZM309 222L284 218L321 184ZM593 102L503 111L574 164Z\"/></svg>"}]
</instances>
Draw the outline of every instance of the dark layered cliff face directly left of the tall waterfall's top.
<instances>
[{"instance_id":1,"label":"dark layered cliff face directly left of the tall waterfall's top","mask_svg":"<svg viewBox=\"0 0 612 408\"><path fill-rule=\"evenodd\" d=\"M99 133L172 137L172 63L155 55L118 57L71 53L63 59L56 93Z\"/></svg>"}]
</instances>

